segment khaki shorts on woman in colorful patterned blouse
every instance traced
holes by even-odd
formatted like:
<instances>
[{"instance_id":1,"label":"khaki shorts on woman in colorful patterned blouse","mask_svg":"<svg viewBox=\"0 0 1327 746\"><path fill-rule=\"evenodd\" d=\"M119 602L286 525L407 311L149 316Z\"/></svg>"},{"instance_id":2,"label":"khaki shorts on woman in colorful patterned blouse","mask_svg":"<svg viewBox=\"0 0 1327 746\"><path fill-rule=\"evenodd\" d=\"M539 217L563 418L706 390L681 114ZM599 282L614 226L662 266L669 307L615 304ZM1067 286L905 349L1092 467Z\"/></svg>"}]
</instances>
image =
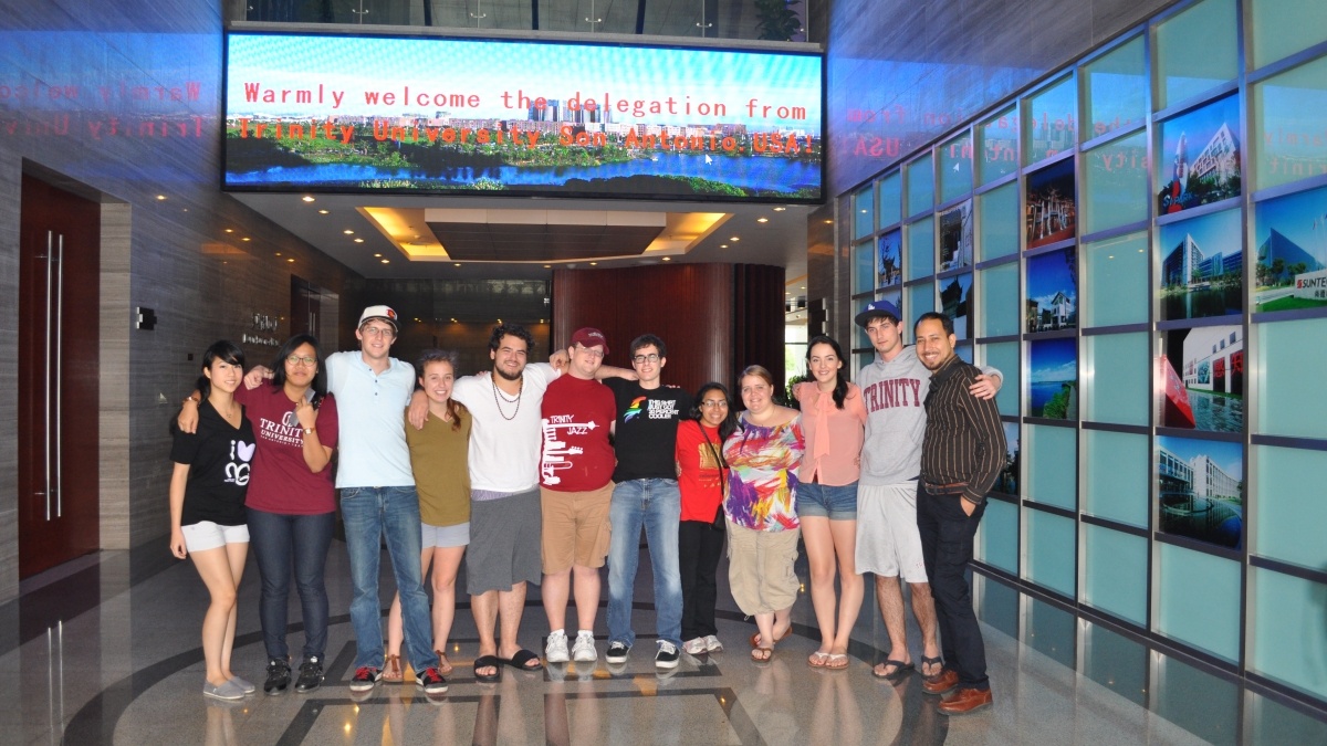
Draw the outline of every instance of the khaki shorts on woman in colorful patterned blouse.
<instances>
[{"instance_id":1,"label":"khaki shorts on woman in colorful patterned blouse","mask_svg":"<svg viewBox=\"0 0 1327 746\"><path fill-rule=\"evenodd\" d=\"M792 571L800 536L800 528L755 531L729 522L729 587L742 613L792 608L802 587Z\"/></svg>"}]
</instances>

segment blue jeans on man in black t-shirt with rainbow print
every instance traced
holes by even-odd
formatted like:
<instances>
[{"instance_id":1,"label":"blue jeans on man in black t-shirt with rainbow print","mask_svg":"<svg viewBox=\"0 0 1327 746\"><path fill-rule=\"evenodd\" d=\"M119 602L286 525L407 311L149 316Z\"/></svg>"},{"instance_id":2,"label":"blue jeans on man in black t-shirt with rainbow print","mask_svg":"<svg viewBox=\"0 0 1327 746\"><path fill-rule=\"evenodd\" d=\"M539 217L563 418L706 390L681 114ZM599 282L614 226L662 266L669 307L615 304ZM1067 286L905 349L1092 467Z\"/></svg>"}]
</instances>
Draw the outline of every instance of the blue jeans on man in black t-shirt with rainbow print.
<instances>
[{"instance_id":1,"label":"blue jeans on man in black t-shirt with rainbow print","mask_svg":"<svg viewBox=\"0 0 1327 746\"><path fill-rule=\"evenodd\" d=\"M641 559L641 526L654 571L654 615L660 640L682 645L682 576L677 565L677 526L682 494L677 479L632 479L613 488L608 548L608 641L636 644L632 600Z\"/></svg>"}]
</instances>

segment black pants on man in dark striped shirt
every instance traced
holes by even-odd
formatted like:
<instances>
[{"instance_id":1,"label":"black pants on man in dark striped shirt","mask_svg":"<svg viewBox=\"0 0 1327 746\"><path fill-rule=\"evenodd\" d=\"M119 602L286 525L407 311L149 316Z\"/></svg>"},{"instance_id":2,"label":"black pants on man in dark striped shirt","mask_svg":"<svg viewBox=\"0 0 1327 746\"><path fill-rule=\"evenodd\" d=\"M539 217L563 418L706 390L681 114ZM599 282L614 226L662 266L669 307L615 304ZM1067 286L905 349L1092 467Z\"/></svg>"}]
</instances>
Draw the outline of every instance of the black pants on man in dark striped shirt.
<instances>
[{"instance_id":1,"label":"black pants on man in dark striped shirt","mask_svg":"<svg viewBox=\"0 0 1327 746\"><path fill-rule=\"evenodd\" d=\"M958 685L963 689L990 689L986 642L973 611L973 591L966 575L973 559L973 536L986 506L977 506L973 515L967 515L962 499L932 494L924 482L918 483L917 530L930 593L936 599L945 668L958 673Z\"/></svg>"}]
</instances>

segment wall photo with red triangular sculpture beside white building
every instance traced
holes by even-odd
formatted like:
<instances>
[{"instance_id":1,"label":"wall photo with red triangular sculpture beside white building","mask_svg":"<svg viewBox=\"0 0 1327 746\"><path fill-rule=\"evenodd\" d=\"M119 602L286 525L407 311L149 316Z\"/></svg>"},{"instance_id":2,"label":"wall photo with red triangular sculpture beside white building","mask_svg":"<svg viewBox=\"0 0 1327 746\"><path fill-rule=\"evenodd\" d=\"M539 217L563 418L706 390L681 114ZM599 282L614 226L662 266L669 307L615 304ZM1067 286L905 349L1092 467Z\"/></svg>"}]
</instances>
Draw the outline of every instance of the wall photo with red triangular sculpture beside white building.
<instances>
[{"instance_id":1,"label":"wall photo with red triangular sculpture beside white building","mask_svg":"<svg viewBox=\"0 0 1327 746\"><path fill-rule=\"evenodd\" d=\"M1157 366L1157 425L1243 433L1242 324L1162 332Z\"/></svg>"}]
</instances>

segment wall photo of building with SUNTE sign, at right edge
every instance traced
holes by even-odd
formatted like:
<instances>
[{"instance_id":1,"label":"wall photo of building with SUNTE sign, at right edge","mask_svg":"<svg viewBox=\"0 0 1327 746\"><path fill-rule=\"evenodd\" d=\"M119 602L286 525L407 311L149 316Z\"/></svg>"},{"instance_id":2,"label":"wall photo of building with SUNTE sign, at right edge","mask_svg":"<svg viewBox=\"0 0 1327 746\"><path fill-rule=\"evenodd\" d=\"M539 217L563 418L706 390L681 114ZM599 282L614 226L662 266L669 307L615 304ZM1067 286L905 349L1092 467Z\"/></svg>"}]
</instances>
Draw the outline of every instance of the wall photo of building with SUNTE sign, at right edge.
<instances>
[{"instance_id":1,"label":"wall photo of building with SUNTE sign, at right edge","mask_svg":"<svg viewBox=\"0 0 1327 746\"><path fill-rule=\"evenodd\" d=\"M1254 206L1253 309L1327 308L1327 187Z\"/></svg>"}]
</instances>

